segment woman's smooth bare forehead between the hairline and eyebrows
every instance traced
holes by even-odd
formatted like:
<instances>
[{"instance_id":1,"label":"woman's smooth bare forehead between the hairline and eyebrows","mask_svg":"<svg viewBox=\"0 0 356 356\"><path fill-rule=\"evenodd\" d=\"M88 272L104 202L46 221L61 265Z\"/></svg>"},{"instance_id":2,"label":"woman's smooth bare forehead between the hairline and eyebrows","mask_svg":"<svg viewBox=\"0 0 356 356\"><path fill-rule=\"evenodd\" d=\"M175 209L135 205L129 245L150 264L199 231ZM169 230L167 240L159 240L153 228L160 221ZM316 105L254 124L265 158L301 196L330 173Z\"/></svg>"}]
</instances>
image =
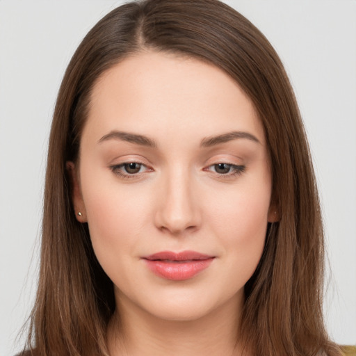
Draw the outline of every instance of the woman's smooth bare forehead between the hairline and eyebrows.
<instances>
[{"instance_id":1,"label":"woman's smooth bare forehead between the hairline and eyebrows","mask_svg":"<svg viewBox=\"0 0 356 356\"><path fill-rule=\"evenodd\" d=\"M102 74L86 127L98 134L176 133L179 139L248 130L264 142L252 101L228 74L202 60L153 51L125 58Z\"/></svg>"}]
</instances>

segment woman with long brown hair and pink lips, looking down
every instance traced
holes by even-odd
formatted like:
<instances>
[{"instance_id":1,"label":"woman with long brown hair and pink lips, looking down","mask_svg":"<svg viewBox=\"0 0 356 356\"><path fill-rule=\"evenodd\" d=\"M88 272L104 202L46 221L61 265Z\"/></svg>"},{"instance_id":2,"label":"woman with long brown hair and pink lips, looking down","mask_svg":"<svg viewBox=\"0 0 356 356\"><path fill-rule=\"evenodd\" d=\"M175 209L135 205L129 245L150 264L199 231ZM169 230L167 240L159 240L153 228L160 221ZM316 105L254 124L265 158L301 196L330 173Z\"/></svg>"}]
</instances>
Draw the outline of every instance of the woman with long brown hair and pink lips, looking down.
<instances>
[{"instance_id":1,"label":"woman with long brown hair and pink lips, looking down","mask_svg":"<svg viewBox=\"0 0 356 356\"><path fill-rule=\"evenodd\" d=\"M106 15L56 103L33 355L342 355L322 280L309 149L266 38L212 0Z\"/></svg>"}]
</instances>

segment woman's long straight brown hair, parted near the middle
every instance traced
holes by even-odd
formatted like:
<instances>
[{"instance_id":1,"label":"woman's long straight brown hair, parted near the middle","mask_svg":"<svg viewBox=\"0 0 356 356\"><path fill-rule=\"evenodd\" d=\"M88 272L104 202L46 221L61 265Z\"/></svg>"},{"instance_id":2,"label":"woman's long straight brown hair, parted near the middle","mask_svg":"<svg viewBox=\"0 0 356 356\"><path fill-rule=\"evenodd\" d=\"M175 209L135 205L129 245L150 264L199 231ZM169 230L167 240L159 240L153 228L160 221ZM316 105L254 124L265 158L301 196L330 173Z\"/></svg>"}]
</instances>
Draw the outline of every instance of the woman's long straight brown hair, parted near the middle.
<instances>
[{"instance_id":1,"label":"woman's long straight brown hair, parted near the middle","mask_svg":"<svg viewBox=\"0 0 356 356\"><path fill-rule=\"evenodd\" d=\"M131 54L170 51L212 63L252 99L264 125L280 221L245 285L241 337L254 355L340 355L323 323L323 226L312 161L293 90L261 32L217 0L145 0L108 13L67 67L49 138L40 280L29 341L41 356L108 355L113 284L88 227L74 217L66 161L79 156L90 92Z\"/></svg>"}]
</instances>

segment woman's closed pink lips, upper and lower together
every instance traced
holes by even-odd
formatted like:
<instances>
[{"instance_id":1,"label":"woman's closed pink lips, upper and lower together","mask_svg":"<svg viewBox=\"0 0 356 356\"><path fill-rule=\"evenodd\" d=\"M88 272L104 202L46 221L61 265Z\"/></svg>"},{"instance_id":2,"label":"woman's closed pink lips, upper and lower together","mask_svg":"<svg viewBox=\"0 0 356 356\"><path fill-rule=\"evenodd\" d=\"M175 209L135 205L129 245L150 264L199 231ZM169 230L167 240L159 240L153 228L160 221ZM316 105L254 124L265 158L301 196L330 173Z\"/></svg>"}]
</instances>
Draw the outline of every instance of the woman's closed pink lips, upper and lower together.
<instances>
[{"instance_id":1,"label":"woman's closed pink lips, upper and lower together","mask_svg":"<svg viewBox=\"0 0 356 356\"><path fill-rule=\"evenodd\" d=\"M215 257L195 251L162 251L143 257L149 270L166 280L189 280L208 268Z\"/></svg>"}]
</instances>

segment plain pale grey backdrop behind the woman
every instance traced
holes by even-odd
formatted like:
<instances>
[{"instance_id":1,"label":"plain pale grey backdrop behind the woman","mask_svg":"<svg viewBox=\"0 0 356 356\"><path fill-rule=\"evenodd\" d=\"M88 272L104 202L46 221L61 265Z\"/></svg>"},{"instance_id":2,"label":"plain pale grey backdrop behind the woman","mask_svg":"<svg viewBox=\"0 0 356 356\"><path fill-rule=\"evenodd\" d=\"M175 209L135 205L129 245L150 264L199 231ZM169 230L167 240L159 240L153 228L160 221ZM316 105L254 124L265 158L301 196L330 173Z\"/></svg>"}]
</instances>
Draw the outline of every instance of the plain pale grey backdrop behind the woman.
<instances>
[{"instance_id":1,"label":"plain pale grey backdrop behind the woman","mask_svg":"<svg viewBox=\"0 0 356 356\"><path fill-rule=\"evenodd\" d=\"M356 343L356 1L226 1L280 54L321 193L332 338ZM112 0L0 0L0 355L33 303L47 138L65 67Z\"/></svg>"}]
</instances>

